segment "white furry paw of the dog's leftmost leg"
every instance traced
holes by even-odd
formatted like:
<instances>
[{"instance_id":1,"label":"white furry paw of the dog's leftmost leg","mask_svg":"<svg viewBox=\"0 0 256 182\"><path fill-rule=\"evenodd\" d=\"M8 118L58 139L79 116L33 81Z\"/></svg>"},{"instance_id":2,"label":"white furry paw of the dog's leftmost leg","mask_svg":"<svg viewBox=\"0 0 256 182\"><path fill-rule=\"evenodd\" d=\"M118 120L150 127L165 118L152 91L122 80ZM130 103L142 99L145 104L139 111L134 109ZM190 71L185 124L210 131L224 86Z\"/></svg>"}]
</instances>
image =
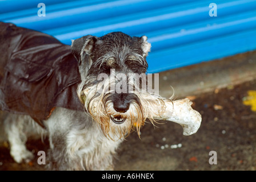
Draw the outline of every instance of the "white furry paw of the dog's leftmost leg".
<instances>
[{"instance_id":1,"label":"white furry paw of the dog's leftmost leg","mask_svg":"<svg viewBox=\"0 0 256 182\"><path fill-rule=\"evenodd\" d=\"M29 163L34 159L34 154L26 149L25 146L13 146L10 151L11 156L17 163Z\"/></svg>"}]
</instances>

